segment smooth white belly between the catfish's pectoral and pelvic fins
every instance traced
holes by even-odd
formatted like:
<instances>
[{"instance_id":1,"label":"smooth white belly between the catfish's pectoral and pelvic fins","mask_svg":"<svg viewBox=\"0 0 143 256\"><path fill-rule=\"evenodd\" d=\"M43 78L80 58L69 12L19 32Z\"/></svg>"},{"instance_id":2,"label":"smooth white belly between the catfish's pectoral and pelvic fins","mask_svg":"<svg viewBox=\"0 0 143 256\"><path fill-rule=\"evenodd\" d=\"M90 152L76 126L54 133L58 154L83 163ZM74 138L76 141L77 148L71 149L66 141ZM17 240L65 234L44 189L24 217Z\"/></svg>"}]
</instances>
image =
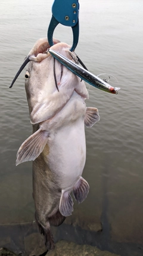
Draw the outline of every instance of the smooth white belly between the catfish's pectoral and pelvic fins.
<instances>
[{"instance_id":1,"label":"smooth white belly between the catfish's pectoral and pelvic fins","mask_svg":"<svg viewBox=\"0 0 143 256\"><path fill-rule=\"evenodd\" d=\"M59 176L62 189L72 188L82 176L85 159L83 122L61 129L49 144L48 165L50 170Z\"/></svg>"}]
</instances>

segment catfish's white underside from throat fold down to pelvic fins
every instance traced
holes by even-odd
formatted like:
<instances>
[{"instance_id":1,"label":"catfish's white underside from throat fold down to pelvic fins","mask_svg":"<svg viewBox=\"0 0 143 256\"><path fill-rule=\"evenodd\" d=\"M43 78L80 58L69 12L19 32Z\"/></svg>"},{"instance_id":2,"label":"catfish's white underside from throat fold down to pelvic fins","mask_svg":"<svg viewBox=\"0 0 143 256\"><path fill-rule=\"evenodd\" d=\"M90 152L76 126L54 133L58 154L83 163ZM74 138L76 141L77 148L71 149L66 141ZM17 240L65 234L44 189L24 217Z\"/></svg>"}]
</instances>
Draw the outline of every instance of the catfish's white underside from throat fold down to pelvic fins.
<instances>
[{"instance_id":1,"label":"catfish's white underside from throat fold down to pelvic fins","mask_svg":"<svg viewBox=\"0 0 143 256\"><path fill-rule=\"evenodd\" d=\"M85 112L84 99L74 92L50 124L46 162L50 170L57 174L62 189L72 188L82 176L85 166Z\"/></svg>"}]
</instances>

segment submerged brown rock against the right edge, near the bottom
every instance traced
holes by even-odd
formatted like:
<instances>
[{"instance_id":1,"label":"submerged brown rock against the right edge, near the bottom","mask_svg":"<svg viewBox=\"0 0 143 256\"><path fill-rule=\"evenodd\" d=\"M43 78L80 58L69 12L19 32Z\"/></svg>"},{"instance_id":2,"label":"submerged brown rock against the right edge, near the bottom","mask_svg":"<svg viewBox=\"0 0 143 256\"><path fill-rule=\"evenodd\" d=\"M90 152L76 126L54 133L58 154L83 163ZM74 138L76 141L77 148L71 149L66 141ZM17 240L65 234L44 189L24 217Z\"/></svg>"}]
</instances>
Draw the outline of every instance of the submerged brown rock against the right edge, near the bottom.
<instances>
[{"instance_id":1,"label":"submerged brown rock against the right edge, near the bottom","mask_svg":"<svg viewBox=\"0 0 143 256\"><path fill-rule=\"evenodd\" d=\"M111 239L120 243L139 243L143 241L143 208L139 200L132 200L110 218Z\"/></svg>"}]
</instances>

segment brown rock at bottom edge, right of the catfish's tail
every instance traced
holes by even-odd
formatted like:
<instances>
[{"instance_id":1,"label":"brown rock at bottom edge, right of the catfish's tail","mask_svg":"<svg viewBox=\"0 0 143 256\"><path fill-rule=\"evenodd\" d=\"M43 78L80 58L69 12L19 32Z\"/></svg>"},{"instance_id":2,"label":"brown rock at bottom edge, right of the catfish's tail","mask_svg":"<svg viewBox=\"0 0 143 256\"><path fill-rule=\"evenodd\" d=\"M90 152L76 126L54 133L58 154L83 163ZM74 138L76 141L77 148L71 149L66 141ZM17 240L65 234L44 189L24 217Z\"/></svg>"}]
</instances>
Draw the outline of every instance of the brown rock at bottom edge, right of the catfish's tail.
<instances>
[{"instance_id":1,"label":"brown rock at bottom edge, right of the catfish's tail","mask_svg":"<svg viewBox=\"0 0 143 256\"><path fill-rule=\"evenodd\" d=\"M76 243L60 241L56 243L54 251L50 251L46 256L120 256L107 251L100 251L95 246L77 245Z\"/></svg>"}]
</instances>

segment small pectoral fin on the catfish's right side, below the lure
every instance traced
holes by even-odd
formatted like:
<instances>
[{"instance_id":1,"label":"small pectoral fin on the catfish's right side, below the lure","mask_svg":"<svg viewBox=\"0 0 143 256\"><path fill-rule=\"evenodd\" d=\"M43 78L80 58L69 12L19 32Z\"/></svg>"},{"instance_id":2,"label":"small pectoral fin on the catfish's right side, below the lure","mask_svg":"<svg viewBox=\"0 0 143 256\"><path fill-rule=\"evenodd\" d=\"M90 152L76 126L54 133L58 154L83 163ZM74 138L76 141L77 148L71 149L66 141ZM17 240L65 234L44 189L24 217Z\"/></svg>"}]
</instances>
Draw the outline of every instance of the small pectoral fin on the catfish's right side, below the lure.
<instances>
[{"instance_id":1,"label":"small pectoral fin on the catfish's right side, below the lure","mask_svg":"<svg viewBox=\"0 0 143 256\"><path fill-rule=\"evenodd\" d=\"M100 121L98 109L96 107L87 107L85 114L86 127L92 127L98 121Z\"/></svg>"}]
</instances>

